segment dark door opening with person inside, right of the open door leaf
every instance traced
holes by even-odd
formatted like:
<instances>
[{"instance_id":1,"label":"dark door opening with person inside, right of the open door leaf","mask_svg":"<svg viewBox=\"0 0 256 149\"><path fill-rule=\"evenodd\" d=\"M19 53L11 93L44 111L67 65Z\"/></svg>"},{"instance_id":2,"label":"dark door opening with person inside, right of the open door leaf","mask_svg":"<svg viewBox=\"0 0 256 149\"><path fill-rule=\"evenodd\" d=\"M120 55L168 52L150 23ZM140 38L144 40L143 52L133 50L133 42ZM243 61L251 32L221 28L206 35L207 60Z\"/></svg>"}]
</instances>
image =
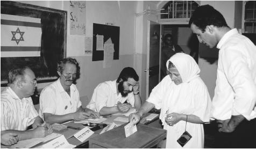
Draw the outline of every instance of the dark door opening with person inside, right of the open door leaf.
<instances>
[{"instance_id":1,"label":"dark door opening with person inside, right of the open door leaf","mask_svg":"<svg viewBox=\"0 0 256 149\"><path fill-rule=\"evenodd\" d=\"M198 63L198 47L199 42L197 37L190 30L189 25L162 25L162 43L161 43L161 64L160 64L160 81L167 75L166 61L175 53L180 51L192 56ZM172 46L168 46L165 37L172 36ZM170 38L168 38L170 39ZM172 47L172 48L170 48Z\"/></svg>"}]
</instances>

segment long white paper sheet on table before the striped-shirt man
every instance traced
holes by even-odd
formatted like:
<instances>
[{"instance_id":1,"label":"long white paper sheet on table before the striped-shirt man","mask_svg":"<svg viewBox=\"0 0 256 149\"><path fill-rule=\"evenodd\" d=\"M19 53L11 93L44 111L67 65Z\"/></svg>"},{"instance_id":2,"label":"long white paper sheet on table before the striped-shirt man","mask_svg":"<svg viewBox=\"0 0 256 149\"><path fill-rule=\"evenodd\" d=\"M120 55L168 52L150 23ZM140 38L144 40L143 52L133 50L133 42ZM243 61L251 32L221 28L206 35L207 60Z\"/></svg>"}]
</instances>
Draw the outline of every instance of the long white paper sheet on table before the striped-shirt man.
<instances>
[{"instance_id":1,"label":"long white paper sheet on table before the striped-shirt man","mask_svg":"<svg viewBox=\"0 0 256 149\"><path fill-rule=\"evenodd\" d=\"M33 138L33 139L27 139L27 140L21 140L18 141L17 144L14 144L10 146L11 148L31 148L39 143L44 143L48 140L52 140L56 137L61 136L59 133L51 133L50 135L47 135L44 138Z\"/></svg>"}]
</instances>

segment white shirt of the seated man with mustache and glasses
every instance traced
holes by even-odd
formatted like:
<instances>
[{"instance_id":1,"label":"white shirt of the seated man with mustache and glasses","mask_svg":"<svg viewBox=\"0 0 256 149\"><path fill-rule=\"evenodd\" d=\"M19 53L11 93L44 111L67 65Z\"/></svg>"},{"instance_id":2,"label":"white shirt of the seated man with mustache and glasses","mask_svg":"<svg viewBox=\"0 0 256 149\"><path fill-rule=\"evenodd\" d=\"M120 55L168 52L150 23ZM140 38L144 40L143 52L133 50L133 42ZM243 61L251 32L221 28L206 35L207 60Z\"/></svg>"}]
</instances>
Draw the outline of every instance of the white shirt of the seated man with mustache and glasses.
<instances>
[{"instance_id":1,"label":"white shirt of the seated man with mustache and glasses","mask_svg":"<svg viewBox=\"0 0 256 149\"><path fill-rule=\"evenodd\" d=\"M76 86L70 86L70 96L64 90L60 83L60 79L54 81L42 90L40 94L40 110L39 115L51 113L54 115L65 115L74 113L81 106L79 91Z\"/></svg>"}]
</instances>

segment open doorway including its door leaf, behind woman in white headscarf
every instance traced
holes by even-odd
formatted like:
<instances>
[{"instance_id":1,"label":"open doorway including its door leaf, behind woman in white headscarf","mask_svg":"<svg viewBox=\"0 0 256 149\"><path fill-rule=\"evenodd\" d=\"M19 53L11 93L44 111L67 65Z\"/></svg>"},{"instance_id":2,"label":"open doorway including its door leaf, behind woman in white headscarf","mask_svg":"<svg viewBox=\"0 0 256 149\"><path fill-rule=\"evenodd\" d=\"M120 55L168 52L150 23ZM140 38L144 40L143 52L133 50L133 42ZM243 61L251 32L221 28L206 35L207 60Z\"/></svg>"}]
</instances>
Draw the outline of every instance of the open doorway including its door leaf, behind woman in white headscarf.
<instances>
[{"instance_id":1,"label":"open doorway including its door leaf, behind woman in white headscarf","mask_svg":"<svg viewBox=\"0 0 256 149\"><path fill-rule=\"evenodd\" d=\"M164 57L162 49L166 44L163 39L166 34L171 34L173 43L179 45L184 53L194 57L198 63L199 42L187 24L163 25L148 21L148 37L150 38L147 43L147 70L145 70L147 72L146 99L153 88L167 75L166 62L162 61ZM169 57L166 59L168 60Z\"/></svg>"}]
</instances>

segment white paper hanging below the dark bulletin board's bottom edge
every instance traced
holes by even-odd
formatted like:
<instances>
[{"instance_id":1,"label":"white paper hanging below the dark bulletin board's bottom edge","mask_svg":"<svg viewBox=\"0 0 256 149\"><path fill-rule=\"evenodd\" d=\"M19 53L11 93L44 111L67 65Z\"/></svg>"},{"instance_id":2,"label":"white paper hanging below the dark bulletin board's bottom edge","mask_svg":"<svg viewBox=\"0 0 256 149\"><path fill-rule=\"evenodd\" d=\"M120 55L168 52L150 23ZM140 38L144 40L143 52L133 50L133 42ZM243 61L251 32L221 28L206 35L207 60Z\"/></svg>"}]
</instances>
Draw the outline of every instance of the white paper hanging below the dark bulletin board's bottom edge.
<instances>
[{"instance_id":1,"label":"white paper hanging below the dark bulletin board's bottom edge","mask_svg":"<svg viewBox=\"0 0 256 149\"><path fill-rule=\"evenodd\" d=\"M111 68L114 51L115 50L114 50L114 44L113 43L105 43L104 44L103 68Z\"/></svg>"}]
</instances>

